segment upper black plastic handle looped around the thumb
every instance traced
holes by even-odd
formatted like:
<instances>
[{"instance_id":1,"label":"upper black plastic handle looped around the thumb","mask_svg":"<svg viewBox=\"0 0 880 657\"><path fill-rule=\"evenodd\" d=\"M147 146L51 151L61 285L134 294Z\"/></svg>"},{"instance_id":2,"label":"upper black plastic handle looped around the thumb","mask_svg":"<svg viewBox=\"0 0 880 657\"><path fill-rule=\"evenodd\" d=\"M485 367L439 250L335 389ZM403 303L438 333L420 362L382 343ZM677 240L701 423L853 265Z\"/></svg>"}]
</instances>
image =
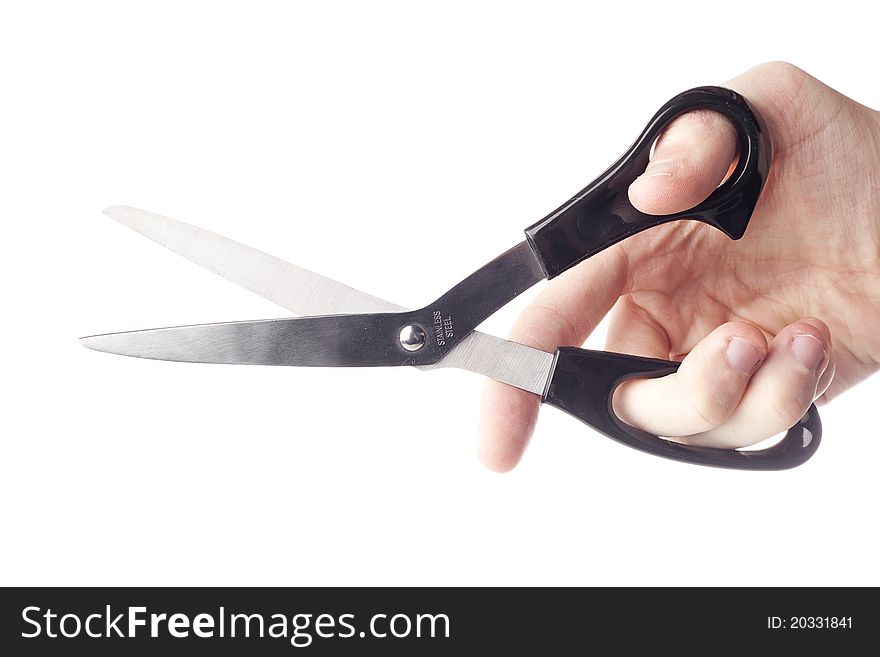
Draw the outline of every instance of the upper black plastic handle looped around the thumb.
<instances>
[{"instance_id":1,"label":"upper black plastic handle looped around the thumb","mask_svg":"<svg viewBox=\"0 0 880 657\"><path fill-rule=\"evenodd\" d=\"M668 215L639 212L627 190L648 164L651 146L675 117L710 109L731 120L739 140L739 160L730 177L699 205ZM548 278L558 276L630 235L676 219L696 219L742 237L770 169L771 147L760 116L746 99L722 87L697 87L679 94L648 123L630 149L590 185L533 226L526 236Z\"/></svg>"}]
</instances>

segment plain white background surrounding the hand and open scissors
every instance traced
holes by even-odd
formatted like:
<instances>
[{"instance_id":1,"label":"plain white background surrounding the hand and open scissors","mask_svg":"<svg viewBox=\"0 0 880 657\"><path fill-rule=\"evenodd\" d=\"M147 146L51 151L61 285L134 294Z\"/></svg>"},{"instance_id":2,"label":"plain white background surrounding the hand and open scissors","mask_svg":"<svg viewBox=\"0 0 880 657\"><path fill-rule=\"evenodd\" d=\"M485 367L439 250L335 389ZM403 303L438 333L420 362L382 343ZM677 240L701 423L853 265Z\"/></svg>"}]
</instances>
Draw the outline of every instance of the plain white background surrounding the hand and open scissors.
<instances>
[{"instance_id":1,"label":"plain white background surrounding the hand and open scissors","mask_svg":"<svg viewBox=\"0 0 880 657\"><path fill-rule=\"evenodd\" d=\"M880 107L869 6L4 4L0 583L880 584L877 379L822 411L821 450L790 472L663 461L545 409L497 475L468 372L76 340L284 315L107 205L419 306L683 89L786 59Z\"/></svg>"}]
</instances>

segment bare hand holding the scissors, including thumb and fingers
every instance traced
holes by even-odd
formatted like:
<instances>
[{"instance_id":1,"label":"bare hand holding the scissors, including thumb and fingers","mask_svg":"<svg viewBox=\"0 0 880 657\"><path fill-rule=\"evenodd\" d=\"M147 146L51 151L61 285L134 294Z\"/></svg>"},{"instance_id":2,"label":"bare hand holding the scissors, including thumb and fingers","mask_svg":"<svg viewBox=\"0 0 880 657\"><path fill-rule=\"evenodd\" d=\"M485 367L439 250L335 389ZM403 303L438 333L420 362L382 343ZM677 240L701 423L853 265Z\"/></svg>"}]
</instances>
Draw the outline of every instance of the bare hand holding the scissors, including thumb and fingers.
<instances>
[{"instance_id":1,"label":"bare hand holding the scissors, including thumb and fingers","mask_svg":"<svg viewBox=\"0 0 880 657\"><path fill-rule=\"evenodd\" d=\"M745 237L693 221L645 231L551 281L510 337L545 351L580 345L610 311L606 349L682 360L676 374L622 385L621 419L689 444L744 447L880 367L880 113L783 62L724 86L749 100L773 140ZM681 116L630 201L650 214L693 207L735 151L721 115ZM519 462L539 406L487 384L477 441L486 466Z\"/></svg>"}]
</instances>

